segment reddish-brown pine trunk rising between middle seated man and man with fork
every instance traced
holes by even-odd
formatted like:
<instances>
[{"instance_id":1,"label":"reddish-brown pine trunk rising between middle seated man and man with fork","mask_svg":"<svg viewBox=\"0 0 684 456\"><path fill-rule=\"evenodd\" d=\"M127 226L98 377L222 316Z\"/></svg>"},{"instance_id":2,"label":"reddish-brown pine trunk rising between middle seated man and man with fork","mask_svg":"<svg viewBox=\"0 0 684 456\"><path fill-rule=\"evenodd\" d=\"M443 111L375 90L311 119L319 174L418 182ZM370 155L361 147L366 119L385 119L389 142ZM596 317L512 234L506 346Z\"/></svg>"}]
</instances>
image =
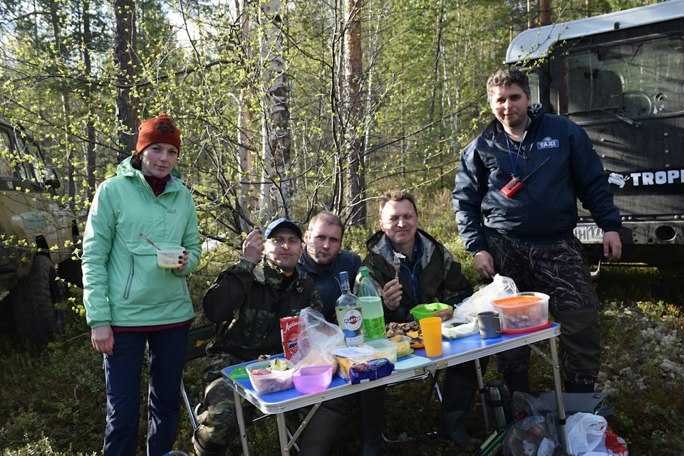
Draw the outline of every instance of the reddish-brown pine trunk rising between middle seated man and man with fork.
<instances>
[{"instance_id":1,"label":"reddish-brown pine trunk rising between middle seated man and man with fork","mask_svg":"<svg viewBox=\"0 0 684 456\"><path fill-rule=\"evenodd\" d=\"M345 146L348 160L348 222L361 226L366 218L366 179L363 166L364 135L361 122L361 0L346 0L344 8L344 90Z\"/></svg>"}]
</instances>

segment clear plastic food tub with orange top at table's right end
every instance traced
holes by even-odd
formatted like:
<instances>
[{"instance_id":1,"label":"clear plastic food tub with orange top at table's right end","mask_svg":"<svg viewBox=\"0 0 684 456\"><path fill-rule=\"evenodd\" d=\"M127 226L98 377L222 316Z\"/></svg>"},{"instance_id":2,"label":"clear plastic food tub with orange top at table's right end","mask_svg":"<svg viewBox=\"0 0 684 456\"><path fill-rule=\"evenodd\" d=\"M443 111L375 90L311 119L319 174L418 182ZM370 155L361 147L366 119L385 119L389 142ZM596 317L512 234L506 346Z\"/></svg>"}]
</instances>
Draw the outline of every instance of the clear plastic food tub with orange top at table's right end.
<instances>
[{"instance_id":1,"label":"clear plastic food tub with orange top at table's right end","mask_svg":"<svg viewBox=\"0 0 684 456\"><path fill-rule=\"evenodd\" d=\"M499 312L504 334L521 334L549 327L549 295L522 292L517 295L494 299L494 309Z\"/></svg>"}]
</instances>

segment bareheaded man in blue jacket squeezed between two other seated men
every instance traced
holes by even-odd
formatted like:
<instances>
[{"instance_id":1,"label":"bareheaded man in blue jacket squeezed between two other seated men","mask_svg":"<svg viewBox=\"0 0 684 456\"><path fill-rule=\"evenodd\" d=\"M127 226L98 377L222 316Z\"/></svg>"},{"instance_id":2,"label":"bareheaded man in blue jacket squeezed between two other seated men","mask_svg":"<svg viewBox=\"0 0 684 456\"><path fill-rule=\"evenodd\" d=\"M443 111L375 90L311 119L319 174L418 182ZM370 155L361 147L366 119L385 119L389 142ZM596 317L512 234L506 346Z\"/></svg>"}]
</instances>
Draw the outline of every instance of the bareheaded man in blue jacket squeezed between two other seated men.
<instances>
[{"instance_id":1,"label":"bareheaded man in blue jacket squeezed between two other seated men","mask_svg":"<svg viewBox=\"0 0 684 456\"><path fill-rule=\"evenodd\" d=\"M335 319L335 302L342 294L340 272L356 277L361 258L356 253L341 250L344 226L333 213L321 212L309 221L304 233L306 248L299 258L297 270L321 295L323 316L328 322Z\"/></svg>"}]
</instances>

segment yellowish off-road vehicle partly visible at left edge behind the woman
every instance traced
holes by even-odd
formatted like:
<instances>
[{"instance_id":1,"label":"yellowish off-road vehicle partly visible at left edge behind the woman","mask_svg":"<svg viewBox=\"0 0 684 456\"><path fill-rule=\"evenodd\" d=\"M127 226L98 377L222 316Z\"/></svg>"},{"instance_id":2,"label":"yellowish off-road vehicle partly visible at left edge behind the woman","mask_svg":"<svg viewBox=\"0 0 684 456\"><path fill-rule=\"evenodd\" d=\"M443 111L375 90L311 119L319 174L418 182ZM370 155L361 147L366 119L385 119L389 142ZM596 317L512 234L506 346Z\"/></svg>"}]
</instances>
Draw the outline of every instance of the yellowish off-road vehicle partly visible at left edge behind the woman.
<instances>
[{"instance_id":1,"label":"yellowish off-road vehicle partly visible at left edge behind the woman","mask_svg":"<svg viewBox=\"0 0 684 456\"><path fill-rule=\"evenodd\" d=\"M0 120L0 326L34 342L63 323L63 280L81 284L78 228L53 198L58 187L38 143Z\"/></svg>"}]
</instances>

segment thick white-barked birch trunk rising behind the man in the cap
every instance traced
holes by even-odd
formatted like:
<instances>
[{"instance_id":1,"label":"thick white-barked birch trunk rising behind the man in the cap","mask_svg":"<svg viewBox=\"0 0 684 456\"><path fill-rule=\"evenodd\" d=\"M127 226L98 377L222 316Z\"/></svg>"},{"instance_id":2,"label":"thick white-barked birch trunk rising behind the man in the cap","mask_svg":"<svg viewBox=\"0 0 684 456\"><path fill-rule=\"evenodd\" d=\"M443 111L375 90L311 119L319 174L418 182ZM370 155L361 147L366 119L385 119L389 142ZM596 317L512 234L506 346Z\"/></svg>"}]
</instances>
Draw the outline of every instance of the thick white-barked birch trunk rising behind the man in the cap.
<instances>
[{"instance_id":1,"label":"thick white-barked birch trunk rising behind the man in the cap","mask_svg":"<svg viewBox=\"0 0 684 456\"><path fill-rule=\"evenodd\" d=\"M287 169L290 155L290 114L287 107L287 77L282 55L281 2L266 0L259 10L261 68L264 83L261 120L262 159L259 218L266 213L288 217L291 214L290 184ZM271 185L275 184L273 195ZM275 206L269 209L271 206Z\"/></svg>"}]
</instances>

